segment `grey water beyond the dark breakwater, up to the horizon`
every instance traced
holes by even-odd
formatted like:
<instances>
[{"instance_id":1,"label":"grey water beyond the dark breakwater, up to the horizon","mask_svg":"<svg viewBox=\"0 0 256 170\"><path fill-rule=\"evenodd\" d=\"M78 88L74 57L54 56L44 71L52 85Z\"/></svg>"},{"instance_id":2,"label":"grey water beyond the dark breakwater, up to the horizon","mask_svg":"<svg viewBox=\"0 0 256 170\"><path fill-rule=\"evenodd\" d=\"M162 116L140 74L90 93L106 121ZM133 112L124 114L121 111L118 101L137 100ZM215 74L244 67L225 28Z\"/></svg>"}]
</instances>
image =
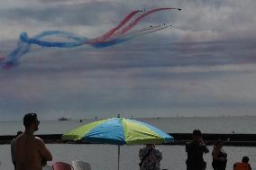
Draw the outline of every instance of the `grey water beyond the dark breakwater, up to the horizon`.
<instances>
[{"instance_id":1,"label":"grey water beyond the dark breakwater, up to the horizon","mask_svg":"<svg viewBox=\"0 0 256 170\"><path fill-rule=\"evenodd\" d=\"M256 116L241 117L178 117L178 118L141 118L144 121L169 133L190 133L199 129L203 133L256 133ZM41 121L36 134L64 133L95 120L77 121ZM15 135L23 130L22 121L0 121L0 135Z\"/></svg>"}]
</instances>

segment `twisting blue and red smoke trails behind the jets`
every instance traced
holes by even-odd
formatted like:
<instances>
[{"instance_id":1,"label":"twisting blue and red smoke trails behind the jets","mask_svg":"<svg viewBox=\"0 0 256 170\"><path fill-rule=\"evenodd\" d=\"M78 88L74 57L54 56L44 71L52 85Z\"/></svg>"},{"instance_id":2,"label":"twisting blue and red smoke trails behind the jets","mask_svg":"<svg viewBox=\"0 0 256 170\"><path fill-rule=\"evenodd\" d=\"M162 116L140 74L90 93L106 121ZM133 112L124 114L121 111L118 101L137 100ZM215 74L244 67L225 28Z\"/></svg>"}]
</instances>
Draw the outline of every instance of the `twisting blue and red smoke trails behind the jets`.
<instances>
[{"instance_id":1,"label":"twisting blue and red smoke trails behind the jets","mask_svg":"<svg viewBox=\"0 0 256 170\"><path fill-rule=\"evenodd\" d=\"M23 55L30 51L32 45L38 45L41 47L48 47L48 48L75 48L82 45L91 45L94 48L100 49L105 48L108 46L113 46L118 43L122 43L123 41L132 40L135 37L151 33L154 31L160 31L165 29L169 26L151 26L151 28L143 28L138 31L130 31L139 21L142 20L146 15L151 13L156 13L162 10L171 10L177 8L157 8L153 9L147 13L143 13L141 16L137 17L133 22L125 26L125 23L129 22L132 17L136 13L140 13L142 11L134 11L128 14L123 21L116 26L114 29L107 31L103 36L98 37L96 39L87 39L86 37L76 35L74 33L68 31L42 31L40 34L29 38L26 32L22 32L20 34L20 40L18 41L16 48L11 52L7 58L0 57L0 67L3 68L10 68L17 66L19 63L19 59L22 58ZM69 41L50 41L50 40L43 40L46 37L53 37L57 36L59 38L65 38Z\"/></svg>"}]
</instances>

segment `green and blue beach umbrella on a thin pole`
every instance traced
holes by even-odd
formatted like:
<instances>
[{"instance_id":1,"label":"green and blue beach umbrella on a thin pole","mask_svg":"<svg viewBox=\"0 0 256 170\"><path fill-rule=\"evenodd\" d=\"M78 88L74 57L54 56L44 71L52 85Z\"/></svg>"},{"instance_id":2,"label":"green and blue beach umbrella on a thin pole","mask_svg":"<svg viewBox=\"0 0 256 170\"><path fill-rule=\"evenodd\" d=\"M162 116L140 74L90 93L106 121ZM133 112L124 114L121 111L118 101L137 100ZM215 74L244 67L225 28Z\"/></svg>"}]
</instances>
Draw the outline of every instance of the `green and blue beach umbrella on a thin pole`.
<instances>
[{"instance_id":1,"label":"green and blue beach umbrella on a thin pole","mask_svg":"<svg viewBox=\"0 0 256 170\"><path fill-rule=\"evenodd\" d=\"M161 144L173 142L173 138L169 134L148 123L124 118L112 118L88 123L65 133L62 139L117 145L118 170L120 146L124 144Z\"/></svg>"}]
</instances>

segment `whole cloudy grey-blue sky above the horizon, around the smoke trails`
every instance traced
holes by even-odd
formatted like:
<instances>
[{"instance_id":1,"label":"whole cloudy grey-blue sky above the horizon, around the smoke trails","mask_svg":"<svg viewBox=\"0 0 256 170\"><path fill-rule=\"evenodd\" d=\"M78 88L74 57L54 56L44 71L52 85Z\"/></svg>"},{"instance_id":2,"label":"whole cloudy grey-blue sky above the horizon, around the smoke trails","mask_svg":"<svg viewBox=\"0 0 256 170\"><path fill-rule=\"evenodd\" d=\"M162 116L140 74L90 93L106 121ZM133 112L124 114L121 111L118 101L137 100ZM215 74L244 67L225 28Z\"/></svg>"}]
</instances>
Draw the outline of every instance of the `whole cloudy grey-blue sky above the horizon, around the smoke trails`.
<instances>
[{"instance_id":1,"label":"whole cloudy grey-blue sky above the horizon, around the smoke trails","mask_svg":"<svg viewBox=\"0 0 256 170\"><path fill-rule=\"evenodd\" d=\"M26 112L56 120L123 117L256 115L254 0L0 1L0 56L20 33L69 31L88 39L134 10L153 13L134 30L172 26L104 49L32 49L0 69L0 121Z\"/></svg>"}]
</instances>

